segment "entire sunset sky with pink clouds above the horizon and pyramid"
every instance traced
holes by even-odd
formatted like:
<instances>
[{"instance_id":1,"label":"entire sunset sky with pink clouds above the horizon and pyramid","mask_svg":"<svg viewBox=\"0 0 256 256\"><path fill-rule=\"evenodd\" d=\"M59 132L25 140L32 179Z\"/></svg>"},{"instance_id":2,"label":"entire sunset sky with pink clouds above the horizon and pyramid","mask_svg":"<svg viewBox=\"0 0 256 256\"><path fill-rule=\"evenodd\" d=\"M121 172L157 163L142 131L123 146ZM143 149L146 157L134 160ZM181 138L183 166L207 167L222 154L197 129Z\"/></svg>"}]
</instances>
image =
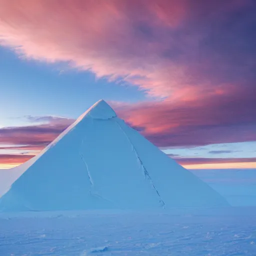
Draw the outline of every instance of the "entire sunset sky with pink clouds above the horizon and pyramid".
<instances>
[{"instance_id":1,"label":"entire sunset sky with pink clouds above the horizon and pyramid","mask_svg":"<svg viewBox=\"0 0 256 256\"><path fill-rule=\"evenodd\" d=\"M256 168L254 0L0 6L0 168L101 98L187 168Z\"/></svg>"}]
</instances>

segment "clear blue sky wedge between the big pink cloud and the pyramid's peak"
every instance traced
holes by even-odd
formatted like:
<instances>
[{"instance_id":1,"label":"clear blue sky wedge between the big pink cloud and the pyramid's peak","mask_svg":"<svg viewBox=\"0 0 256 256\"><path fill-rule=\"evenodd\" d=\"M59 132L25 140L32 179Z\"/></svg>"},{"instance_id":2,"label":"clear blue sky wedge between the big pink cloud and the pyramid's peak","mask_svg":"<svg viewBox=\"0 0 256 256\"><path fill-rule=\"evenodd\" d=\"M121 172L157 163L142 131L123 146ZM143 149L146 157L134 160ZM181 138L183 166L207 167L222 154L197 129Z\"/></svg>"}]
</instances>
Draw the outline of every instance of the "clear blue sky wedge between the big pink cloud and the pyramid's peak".
<instances>
[{"instance_id":1,"label":"clear blue sky wedge between the big pink cloud and the pyramid's peak","mask_svg":"<svg viewBox=\"0 0 256 256\"><path fill-rule=\"evenodd\" d=\"M24 115L78 117L97 100L136 102L145 95L135 86L97 78L67 64L28 60L0 47L0 126L19 125ZM14 119L12 119L14 118Z\"/></svg>"}]
</instances>

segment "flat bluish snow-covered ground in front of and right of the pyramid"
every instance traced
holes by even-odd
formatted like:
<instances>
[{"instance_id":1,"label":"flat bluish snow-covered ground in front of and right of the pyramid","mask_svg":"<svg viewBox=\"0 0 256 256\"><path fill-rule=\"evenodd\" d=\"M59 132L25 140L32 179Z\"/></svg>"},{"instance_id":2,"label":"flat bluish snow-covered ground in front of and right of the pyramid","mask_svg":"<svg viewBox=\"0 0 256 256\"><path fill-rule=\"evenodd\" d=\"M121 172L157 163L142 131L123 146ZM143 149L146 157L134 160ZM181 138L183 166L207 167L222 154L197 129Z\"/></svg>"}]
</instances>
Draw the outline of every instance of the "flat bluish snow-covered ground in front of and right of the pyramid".
<instances>
[{"instance_id":1,"label":"flat bluish snow-covered ground in front of and right of the pyramid","mask_svg":"<svg viewBox=\"0 0 256 256\"><path fill-rule=\"evenodd\" d=\"M232 205L247 206L0 213L0 256L255 256L256 170L192 172Z\"/></svg>"}]
</instances>

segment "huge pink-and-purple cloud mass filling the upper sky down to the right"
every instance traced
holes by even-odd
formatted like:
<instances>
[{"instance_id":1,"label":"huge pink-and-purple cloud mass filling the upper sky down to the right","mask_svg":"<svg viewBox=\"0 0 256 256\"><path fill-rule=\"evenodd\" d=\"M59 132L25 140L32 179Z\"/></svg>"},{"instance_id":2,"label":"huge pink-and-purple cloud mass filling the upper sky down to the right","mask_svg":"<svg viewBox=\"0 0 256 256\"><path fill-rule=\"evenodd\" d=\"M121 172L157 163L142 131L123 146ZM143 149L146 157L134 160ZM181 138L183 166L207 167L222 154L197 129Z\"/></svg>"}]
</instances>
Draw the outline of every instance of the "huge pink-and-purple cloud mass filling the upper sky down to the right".
<instances>
[{"instance_id":1,"label":"huge pink-and-purple cloud mass filling the upper sky down to the right","mask_svg":"<svg viewBox=\"0 0 256 256\"><path fill-rule=\"evenodd\" d=\"M0 0L0 6L1 44L27 58L122 77L161 97L119 106L155 144L256 140L252 0ZM62 128L34 138L48 143ZM29 142L20 130L13 134L0 141Z\"/></svg>"}]
</instances>

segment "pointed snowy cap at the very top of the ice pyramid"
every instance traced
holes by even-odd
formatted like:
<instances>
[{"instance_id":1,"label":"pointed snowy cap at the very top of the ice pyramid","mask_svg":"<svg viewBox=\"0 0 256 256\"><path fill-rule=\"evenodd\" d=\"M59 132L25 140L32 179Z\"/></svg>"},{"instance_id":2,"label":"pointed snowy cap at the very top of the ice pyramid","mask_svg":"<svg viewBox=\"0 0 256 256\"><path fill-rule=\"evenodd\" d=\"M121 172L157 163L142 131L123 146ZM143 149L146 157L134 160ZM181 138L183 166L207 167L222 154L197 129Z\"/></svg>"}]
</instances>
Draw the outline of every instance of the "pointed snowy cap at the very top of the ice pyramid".
<instances>
[{"instance_id":1,"label":"pointed snowy cap at the very top of the ice pyramid","mask_svg":"<svg viewBox=\"0 0 256 256\"><path fill-rule=\"evenodd\" d=\"M88 108L80 117L82 119L84 117L91 117L93 119L110 119L115 117L116 113L109 106L104 99L98 100L94 103L90 108Z\"/></svg>"}]
</instances>

